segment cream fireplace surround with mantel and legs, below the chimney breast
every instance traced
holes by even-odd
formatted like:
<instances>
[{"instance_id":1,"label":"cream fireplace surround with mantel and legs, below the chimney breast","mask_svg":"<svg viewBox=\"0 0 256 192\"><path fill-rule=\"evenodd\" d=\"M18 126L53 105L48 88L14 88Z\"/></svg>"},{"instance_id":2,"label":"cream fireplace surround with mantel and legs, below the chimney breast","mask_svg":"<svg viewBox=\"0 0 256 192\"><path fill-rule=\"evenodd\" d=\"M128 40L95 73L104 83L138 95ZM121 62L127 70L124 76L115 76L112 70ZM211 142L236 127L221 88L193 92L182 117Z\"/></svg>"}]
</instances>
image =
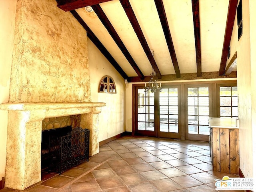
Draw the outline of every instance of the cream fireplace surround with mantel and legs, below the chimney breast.
<instances>
[{"instance_id":1,"label":"cream fireplace surround with mantel and legs, below the chimney breast","mask_svg":"<svg viewBox=\"0 0 256 192\"><path fill-rule=\"evenodd\" d=\"M98 153L98 114L105 103L4 103L8 110L5 187L18 190L41 181L42 120L80 114L82 128L90 130L89 155Z\"/></svg>"}]
</instances>

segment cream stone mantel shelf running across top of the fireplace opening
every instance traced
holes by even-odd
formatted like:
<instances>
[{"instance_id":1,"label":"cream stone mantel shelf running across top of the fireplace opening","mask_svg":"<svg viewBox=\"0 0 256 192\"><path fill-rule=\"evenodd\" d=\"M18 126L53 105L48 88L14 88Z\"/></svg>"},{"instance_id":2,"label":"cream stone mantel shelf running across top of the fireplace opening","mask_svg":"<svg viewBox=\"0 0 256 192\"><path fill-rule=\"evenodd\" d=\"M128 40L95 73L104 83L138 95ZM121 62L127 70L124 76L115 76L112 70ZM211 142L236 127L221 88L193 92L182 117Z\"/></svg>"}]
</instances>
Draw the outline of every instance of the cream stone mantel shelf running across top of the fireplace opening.
<instances>
[{"instance_id":1,"label":"cream stone mantel shelf running across top of the fireplace opening","mask_svg":"<svg viewBox=\"0 0 256 192\"><path fill-rule=\"evenodd\" d=\"M106 103L96 102L70 102L70 103L3 103L0 104L1 110L56 110L56 109L71 109L71 108L90 108L102 107Z\"/></svg>"}]
</instances>

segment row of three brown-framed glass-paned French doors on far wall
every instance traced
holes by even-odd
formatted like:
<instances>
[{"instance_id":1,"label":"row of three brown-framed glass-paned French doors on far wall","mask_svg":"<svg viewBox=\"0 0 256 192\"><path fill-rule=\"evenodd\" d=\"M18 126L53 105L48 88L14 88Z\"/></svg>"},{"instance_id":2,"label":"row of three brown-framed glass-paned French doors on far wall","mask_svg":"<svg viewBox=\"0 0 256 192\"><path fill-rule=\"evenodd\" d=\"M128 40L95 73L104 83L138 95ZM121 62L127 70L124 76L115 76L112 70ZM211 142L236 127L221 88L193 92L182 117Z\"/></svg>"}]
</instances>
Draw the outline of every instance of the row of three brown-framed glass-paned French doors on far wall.
<instances>
[{"instance_id":1,"label":"row of three brown-framed glass-paned French doors on far wall","mask_svg":"<svg viewBox=\"0 0 256 192\"><path fill-rule=\"evenodd\" d=\"M162 84L162 92L134 86L134 133L208 141L212 84Z\"/></svg>"}]
</instances>

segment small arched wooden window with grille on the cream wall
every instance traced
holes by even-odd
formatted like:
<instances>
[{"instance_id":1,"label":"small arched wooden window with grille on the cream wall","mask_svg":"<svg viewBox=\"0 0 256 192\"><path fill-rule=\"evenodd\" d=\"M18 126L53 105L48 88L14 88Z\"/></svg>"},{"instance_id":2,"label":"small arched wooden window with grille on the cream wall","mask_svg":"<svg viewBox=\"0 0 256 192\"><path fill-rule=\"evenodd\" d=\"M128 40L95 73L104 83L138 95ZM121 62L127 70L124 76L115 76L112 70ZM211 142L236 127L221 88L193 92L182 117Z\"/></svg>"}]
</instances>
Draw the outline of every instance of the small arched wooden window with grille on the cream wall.
<instances>
[{"instance_id":1,"label":"small arched wooden window with grille on the cream wall","mask_svg":"<svg viewBox=\"0 0 256 192\"><path fill-rule=\"evenodd\" d=\"M101 79L99 93L116 93L116 84L112 77L106 75Z\"/></svg>"}]
</instances>

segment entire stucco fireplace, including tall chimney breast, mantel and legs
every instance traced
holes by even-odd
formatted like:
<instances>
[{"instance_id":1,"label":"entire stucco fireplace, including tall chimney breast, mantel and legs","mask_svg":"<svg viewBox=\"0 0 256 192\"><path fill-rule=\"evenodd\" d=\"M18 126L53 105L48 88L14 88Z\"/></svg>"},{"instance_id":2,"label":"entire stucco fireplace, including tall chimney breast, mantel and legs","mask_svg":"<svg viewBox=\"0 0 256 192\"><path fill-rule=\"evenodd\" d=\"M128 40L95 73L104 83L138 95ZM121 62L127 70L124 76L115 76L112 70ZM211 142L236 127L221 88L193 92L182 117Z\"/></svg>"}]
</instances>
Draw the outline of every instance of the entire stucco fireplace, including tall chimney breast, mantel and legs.
<instances>
[{"instance_id":1,"label":"entire stucco fireplace, including tall chimney breast, mantel and legs","mask_svg":"<svg viewBox=\"0 0 256 192\"><path fill-rule=\"evenodd\" d=\"M15 2L11 59L3 63L10 67L9 97L0 110L8 111L5 187L24 190L41 180L42 120L80 114L94 155L105 104L92 102L87 34L74 16L56 0Z\"/></svg>"}]
</instances>

